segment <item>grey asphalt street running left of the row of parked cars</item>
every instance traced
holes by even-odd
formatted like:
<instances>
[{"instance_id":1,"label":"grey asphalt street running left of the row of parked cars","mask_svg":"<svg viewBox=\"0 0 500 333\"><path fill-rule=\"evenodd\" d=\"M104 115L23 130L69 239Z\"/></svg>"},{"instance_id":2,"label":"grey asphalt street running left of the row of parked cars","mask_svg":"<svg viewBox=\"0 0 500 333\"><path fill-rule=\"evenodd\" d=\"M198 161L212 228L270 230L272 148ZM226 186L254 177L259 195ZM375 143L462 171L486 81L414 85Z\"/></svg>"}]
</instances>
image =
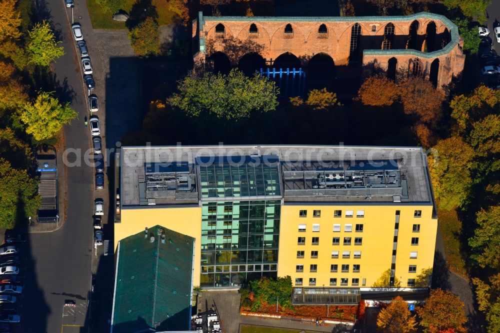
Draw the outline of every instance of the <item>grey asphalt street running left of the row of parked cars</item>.
<instances>
[{"instance_id":1,"label":"grey asphalt street running left of the row of parked cars","mask_svg":"<svg viewBox=\"0 0 500 333\"><path fill-rule=\"evenodd\" d=\"M44 5L38 2L38 6L42 18L53 22L65 50L53 63L55 91L60 99L70 101L79 114L64 128L66 149L85 152L90 145L89 131L83 124L87 92L82 85L66 7L63 0L47 1ZM68 159L74 161L74 154ZM65 321L68 326L64 328L68 330L61 327L64 300L87 303L91 281L93 168L80 161L80 166L66 168L67 218L63 226L53 232L30 233L21 248L20 255L26 260L22 273L25 281L20 301L21 323L14 328L16 332L88 331L87 327L80 327L85 322L86 306L78 308L74 317L66 316L70 320Z\"/></svg>"}]
</instances>

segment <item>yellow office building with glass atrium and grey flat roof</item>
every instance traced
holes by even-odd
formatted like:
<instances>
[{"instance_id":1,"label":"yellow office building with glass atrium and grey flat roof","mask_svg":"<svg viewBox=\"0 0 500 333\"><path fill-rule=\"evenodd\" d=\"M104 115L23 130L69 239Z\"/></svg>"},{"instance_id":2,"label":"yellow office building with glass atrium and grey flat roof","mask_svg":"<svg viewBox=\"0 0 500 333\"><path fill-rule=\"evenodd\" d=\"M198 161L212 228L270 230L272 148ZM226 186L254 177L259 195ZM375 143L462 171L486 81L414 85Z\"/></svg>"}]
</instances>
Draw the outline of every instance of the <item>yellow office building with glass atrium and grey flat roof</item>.
<instances>
[{"instance_id":1,"label":"yellow office building with glass atrium and grey flat roof","mask_svg":"<svg viewBox=\"0 0 500 333\"><path fill-rule=\"evenodd\" d=\"M122 147L115 244L156 224L195 238L194 284L290 275L294 301L432 267L437 216L419 147ZM353 292L356 294L356 292Z\"/></svg>"}]
</instances>

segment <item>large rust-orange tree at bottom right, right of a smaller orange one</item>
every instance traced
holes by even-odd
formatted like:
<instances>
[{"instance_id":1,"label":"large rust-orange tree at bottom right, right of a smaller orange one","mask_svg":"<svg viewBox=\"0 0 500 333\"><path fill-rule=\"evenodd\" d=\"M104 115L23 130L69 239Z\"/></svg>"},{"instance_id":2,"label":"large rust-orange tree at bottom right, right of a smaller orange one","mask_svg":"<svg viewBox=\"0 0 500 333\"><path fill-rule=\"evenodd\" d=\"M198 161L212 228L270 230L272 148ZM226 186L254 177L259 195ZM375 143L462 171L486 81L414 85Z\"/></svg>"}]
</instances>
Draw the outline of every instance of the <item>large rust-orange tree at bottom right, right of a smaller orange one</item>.
<instances>
[{"instance_id":1,"label":"large rust-orange tree at bottom right, right of a smaller orange one","mask_svg":"<svg viewBox=\"0 0 500 333\"><path fill-rule=\"evenodd\" d=\"M425 304L416 309L420 326L424 332L442 331L466 332L463 324L467 321L460 297L449 291L433 289Z\"/></svg>"}]
</instances>

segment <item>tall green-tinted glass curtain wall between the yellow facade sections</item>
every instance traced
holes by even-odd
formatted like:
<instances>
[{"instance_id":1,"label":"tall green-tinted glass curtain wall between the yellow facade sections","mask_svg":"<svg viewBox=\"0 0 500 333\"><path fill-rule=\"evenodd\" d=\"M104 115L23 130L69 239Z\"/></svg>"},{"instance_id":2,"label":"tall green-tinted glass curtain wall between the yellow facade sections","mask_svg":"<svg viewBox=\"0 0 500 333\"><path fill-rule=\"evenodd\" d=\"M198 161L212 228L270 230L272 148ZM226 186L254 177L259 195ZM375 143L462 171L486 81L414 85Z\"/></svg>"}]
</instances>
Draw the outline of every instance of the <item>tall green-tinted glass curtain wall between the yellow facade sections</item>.
<instances>
[{"instance_id":1,"label":"tall green-tinted glass curtain wall between the yellow facade sections","mask_svg":"<svg viewBox=\"0 0 500 333\"><path fill-rule=\"evenodd\" d=\"M279 200L203 202L201 286L276 277L279 215Z\"/></svg>"}]
</instances>

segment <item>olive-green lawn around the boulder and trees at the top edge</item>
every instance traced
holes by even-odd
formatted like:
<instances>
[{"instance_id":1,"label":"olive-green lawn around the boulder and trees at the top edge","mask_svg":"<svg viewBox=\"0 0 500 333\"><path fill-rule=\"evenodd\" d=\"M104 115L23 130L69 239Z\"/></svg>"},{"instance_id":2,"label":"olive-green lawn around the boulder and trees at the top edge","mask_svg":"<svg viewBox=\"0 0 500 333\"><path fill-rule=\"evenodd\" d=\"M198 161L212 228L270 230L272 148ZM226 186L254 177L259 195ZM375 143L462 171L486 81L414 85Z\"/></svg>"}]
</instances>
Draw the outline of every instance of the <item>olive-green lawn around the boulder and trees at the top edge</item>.
<instances>
[{"instance_id":1,"label":"olive-green lawn around the boulder and trees at the top edge","mask_svg":"<svg viewBox=\"0 0 500 333\"><path fill-rule=\"evenodd\" d=\"M126 0L123 10L130 13L135 0ZM175 22L174 13L168 10L166 1L152 0L152 4L158 12L158 24L164 25ZM87 8L94 29L126 29L125 22L117 22L113 20L113 15L102 11L101 6L95 0L87 0Z\"/></svg>"}]
</instances>

